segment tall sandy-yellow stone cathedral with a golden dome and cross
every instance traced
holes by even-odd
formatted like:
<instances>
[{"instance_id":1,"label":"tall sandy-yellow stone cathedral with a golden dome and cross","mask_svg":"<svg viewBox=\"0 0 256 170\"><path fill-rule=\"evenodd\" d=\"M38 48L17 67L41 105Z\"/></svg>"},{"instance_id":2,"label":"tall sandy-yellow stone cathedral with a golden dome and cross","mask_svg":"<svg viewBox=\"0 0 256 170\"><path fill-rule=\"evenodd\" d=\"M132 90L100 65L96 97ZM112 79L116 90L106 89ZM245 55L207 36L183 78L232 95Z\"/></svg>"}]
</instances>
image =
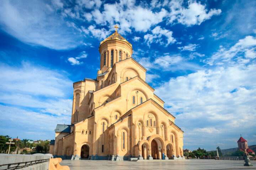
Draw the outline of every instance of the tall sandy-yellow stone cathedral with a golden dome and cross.
<instances>
[{"instance_id":1,"label":"tall sandy-yellow stone cathedral with a golden dome and cross","mask_svg":"<svg viewBox=\"0 0 256 170\"><path fill-rule=\"evenodd\" d=\"M182 159L183 131L145 82L146 69L116 32L101 41L97 78L75 82L70 125L58 124L50 153L63 159ZM170 94L171 95L171 94Z\"/></svg>"}]
</instances>

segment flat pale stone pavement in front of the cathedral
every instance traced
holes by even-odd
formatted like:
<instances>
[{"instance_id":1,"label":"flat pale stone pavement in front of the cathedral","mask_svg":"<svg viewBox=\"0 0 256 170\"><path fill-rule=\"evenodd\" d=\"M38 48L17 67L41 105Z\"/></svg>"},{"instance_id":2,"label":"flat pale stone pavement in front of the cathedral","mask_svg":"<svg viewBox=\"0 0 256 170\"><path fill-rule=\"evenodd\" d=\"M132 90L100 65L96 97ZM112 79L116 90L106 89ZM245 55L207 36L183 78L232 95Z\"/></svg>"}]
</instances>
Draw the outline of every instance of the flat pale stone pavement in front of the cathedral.
<instances>
[{"instance_id":1,"label":"flat pale stone pavement in front of the cathedral","mask_svg":"<svg viewBox=\"0 0 256 170\"><path fill-rule=\"evenodd\" d=\"M188 160L140 160L111 161L111 160L63 160L61 165L68 165L70 170L133 170L133 169L171 169L171 170L256 170L256 161L253 166L244 166L244 161L188 159Z\"/></svg>"}]
</instances>

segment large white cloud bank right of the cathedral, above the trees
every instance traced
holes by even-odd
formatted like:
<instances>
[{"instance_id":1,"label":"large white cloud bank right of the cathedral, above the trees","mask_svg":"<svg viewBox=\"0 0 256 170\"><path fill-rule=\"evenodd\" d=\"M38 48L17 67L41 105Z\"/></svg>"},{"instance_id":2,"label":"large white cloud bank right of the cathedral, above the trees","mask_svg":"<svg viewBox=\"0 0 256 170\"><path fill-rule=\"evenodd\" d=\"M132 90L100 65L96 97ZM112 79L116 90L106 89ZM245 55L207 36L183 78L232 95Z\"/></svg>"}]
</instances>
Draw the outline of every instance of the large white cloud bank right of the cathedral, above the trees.
<instances>
[{"instance_id":1,"label":"large white cloud bank right of the cathedral, above the trees","mask_svg":"<svg viewBox=\"0 0 256 170\"><path fill-rule=\"evenodd\" d=\"M226 135L255 129L250 123L256 119L255 73L255 63L199 70L171 78L155 93L175 115L175 123L184 127L183 140L190 141L188 145L198 146L201 138L202 145L222 142L229 148L230 142L222 140Z\"/></svg>"}]
</instances>

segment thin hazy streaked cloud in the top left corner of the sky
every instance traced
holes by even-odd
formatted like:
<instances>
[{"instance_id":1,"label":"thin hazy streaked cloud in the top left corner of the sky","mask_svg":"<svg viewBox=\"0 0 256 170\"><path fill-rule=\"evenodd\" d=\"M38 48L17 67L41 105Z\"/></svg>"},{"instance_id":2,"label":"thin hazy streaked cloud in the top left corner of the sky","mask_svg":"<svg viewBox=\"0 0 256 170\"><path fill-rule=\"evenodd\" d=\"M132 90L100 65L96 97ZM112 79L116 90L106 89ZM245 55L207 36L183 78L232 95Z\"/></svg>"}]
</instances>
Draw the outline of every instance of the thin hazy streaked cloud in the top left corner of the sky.
<instances>
[{"instance_id":1,"label":"thin hazy streaked cloud in the top left corner of the sky","mask_svg":"<svg viewBox=\"0 0 256 170\"><path fill-rule=\"evenodd\" d=\"M53 2L61 7L59 1ZM56 4L57 3L57 4ZM0 6L0 25L8 34L32 45L50 49L70 49L81 44L82 37L43 1L3 1Z\"/></svg>"}]
</instances>

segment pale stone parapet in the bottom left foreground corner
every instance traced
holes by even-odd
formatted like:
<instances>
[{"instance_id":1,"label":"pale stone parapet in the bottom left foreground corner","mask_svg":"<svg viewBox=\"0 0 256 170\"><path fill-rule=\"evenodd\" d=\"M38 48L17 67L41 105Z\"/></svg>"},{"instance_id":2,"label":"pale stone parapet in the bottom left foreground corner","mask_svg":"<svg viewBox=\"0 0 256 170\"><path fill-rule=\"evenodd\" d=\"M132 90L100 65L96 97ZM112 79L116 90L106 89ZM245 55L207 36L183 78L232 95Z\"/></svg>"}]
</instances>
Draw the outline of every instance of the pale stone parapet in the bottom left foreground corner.
<instances>
[{"instance_id":1,"label":"pale stone parapet in the bottom left foreground corner","mask_svg":"<svg viewBox=\"0 0 256 170\"><path fill-rule=\"evenodd\" d=\"M52 154L0 154L0 170L48 170L50 158L53 158Z\"/></svg>"}]
</instances>

